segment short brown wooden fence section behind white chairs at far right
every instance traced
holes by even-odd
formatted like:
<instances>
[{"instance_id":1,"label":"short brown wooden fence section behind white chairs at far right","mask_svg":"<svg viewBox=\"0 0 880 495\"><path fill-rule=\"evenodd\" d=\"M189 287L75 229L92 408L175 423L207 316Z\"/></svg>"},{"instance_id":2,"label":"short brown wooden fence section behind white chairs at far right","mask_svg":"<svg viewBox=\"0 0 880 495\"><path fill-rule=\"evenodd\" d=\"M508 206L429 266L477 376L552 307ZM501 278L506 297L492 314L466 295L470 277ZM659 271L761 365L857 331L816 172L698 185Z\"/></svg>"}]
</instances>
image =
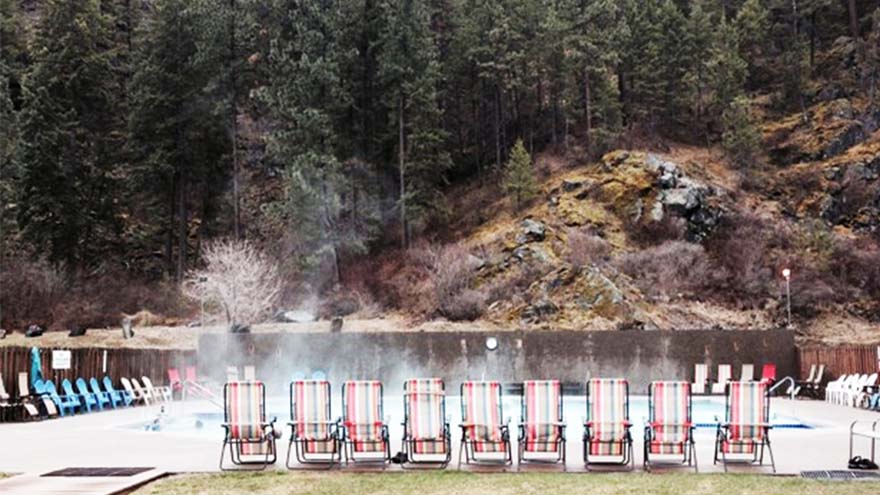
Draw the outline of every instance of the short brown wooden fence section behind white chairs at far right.
<instances>
[{"instance_id":1,"label":"short brown wooden fence section behind white chairs at far right","mask_svg":"<svg viewBox=\"0 0 880 495\"><path fill-rule=\"evenodd\" d=\"M811 345L798 348L800 378L810 374L810 366L825 365L825 380L842 374L876 373L880 371L880 346L874 345Z\"/></svg>"}]
</instances>

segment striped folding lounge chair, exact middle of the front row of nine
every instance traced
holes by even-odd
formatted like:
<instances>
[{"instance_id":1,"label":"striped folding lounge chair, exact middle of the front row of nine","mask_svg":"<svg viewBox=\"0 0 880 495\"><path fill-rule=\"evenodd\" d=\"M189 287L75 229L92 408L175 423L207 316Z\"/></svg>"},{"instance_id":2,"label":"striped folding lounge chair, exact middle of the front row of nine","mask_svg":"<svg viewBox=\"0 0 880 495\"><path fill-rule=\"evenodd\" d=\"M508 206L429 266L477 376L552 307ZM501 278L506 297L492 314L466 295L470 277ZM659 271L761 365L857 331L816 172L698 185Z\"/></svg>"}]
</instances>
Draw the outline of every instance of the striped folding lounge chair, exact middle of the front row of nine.
<instances>
[{"instance_id":1,"label":"striped folding lounge chair, exact middle of the front row of nine","mask_svg":"<svg viewBox=\"0 0 880 495\"><path fill-rule=\"evenodd\" d=\"M466 381L461 384L461 448L468 464L513 464L510 429L502 420L501 383Z\"/></svg>"}]
</instances>

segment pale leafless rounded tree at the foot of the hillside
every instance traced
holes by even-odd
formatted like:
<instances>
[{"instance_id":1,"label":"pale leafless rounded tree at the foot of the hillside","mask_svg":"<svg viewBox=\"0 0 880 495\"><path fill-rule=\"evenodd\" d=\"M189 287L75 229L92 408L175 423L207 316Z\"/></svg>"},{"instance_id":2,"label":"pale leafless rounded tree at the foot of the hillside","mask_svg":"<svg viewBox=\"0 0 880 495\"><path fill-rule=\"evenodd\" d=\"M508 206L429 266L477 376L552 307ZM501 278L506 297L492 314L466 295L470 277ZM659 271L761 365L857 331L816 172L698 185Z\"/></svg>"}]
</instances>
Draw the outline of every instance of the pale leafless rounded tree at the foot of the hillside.
<instances>
[{"instance_id":1,"label":"pale leafless rounded tree at the foot of the hillside","mask_svg":"<svg viewBox=\"0 0 880 495\"><path fill-rule=\"evenodd\" d=\"M226 323L256 323L281 293L277 264L246 241L216 241L204 253L205 268L191 271L184 294L222 311Z\"/></svg>"}]
</instances>

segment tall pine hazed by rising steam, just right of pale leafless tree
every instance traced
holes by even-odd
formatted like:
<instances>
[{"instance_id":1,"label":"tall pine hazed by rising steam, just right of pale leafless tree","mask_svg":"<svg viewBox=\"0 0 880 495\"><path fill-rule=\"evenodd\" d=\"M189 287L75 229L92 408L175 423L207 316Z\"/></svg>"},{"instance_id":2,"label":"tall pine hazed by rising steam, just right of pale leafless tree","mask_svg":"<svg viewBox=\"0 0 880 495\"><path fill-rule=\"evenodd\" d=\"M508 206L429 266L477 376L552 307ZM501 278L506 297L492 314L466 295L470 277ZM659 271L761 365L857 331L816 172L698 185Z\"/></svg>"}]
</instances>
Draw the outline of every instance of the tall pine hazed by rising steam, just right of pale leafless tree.
<instances>
[{"instance_id":1,"label":"tall pine hazed by rising steam, just right of pale leafless tree","mask_svg":"<svg viewBox=\"0 0 880 495\"><path fill-rule=\"evenodd\" d=\"M362 252L371 234L357 222L344 222L357 212L343 204L346 177L338 158L336 121L350 101L341 80L342 19L334 0L279 0L274 8L283 21L272 33L262 100L274 122L269 157L285 169L280 212L290 226L298 268L329 261L330 282L338 283L343 255Z\"/></svg>"}]
</instances>

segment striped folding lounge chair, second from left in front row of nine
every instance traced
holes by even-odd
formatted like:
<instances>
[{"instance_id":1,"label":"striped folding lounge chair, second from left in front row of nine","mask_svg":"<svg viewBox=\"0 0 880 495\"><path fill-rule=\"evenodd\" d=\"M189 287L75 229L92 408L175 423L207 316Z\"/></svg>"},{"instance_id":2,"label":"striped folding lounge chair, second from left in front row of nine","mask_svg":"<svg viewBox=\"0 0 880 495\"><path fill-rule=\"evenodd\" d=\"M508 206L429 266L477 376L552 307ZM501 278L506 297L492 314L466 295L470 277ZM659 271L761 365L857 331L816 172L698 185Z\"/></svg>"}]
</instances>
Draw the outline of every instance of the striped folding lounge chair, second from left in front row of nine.
<instances>
[{"instance_id":1,"label":"striped folding lounge chair, second from left in front row of nine","mask_svg":"<svg viewBox=\"0 0 880 495\"><path fill-rule=\"evenodd\" d=\"M330 417L330 382L295 380L290 383L290 445L287 468L304 469L321 465L327 469L342 457L339 448L339 420ZM299 466L290 464L296 455Z\"/></svg>"}]
</instances>

